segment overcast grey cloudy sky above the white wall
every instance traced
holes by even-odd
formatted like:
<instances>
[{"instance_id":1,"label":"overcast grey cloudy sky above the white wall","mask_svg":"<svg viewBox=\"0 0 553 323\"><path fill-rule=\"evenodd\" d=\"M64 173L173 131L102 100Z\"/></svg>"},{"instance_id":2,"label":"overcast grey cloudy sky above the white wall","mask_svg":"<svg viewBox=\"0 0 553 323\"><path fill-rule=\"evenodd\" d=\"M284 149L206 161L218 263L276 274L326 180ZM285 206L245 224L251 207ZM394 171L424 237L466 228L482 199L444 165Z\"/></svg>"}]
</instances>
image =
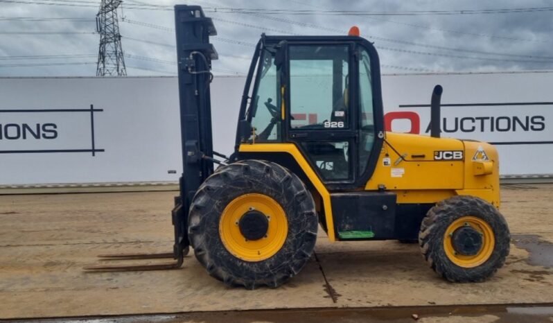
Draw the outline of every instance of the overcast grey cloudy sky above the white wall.
<instances>
[{"instance_id":1,"label":"overcast grey cloudy sky above the white wall","mask_svg":"<svg viewBox=\"0 0 553 323\"><path fill-rule=\"evenodd\" d=\"M94 19L100 0L14 1L0 0L0 76L96 75L99 35L94 33ZM137 3L150 6L146 8ZM129 76L175 75L173 12L165 6L176 3L184 2L123 1L119 26ZM362 37L375 43L383 73L553 70L551 9L475 15L379 16L221 12L228 8L365 13L553 8L552 0L198 0L193 4L207 9L218 30L218 37L213 39L220 53L220 60L213 63L216 75L247 72L253 44L263 32L345 35L354 24L360 27ZM218 8L218 12L212 8ZM82 20L64 20L67 18ZM52 55L55 57L49 57ZM49 66L42 66L46 64Z\"/></svg>"}]
</instances>

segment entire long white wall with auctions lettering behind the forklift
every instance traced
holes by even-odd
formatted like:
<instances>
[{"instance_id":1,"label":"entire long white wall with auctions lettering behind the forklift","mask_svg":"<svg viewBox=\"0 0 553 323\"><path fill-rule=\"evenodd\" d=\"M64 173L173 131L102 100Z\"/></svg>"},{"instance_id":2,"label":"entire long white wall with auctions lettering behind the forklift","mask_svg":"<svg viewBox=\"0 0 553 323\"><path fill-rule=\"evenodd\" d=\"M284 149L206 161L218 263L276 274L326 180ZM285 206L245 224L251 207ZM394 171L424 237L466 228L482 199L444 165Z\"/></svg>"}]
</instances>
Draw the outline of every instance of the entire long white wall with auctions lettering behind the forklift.
<instances>
[{"instance_id":1,"label":"entire long white wall with auctions lettering behind the forklift","mask_svg":"<svg viewBox=\"0 0 553 323\"><path fill-rule=\"evenodd\" d=\"M245 78L211 87L213 141L234 148ZM383 76L385 121L428 134L444 87L444 137L497 145L502 175L550 174L553 72ZM0 185L177 181L177 79L0 78Z\"/></svg>"}]
</instances>

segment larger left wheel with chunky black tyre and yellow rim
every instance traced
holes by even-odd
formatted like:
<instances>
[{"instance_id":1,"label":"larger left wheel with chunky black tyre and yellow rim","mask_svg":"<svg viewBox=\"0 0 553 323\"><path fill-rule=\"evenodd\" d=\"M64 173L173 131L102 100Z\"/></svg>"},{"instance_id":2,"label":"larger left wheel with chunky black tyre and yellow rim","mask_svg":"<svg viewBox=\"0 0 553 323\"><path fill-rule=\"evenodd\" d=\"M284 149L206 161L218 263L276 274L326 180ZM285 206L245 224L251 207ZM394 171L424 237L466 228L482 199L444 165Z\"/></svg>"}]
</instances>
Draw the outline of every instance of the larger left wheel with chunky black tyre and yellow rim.
<instances>
[{"instance_id":1,"label":"larger left wheel with chunky black tyre and yellow rim","mask_svg":"<svg viewBox=\"0 0 553 323\"><path fill-rule=\"evenodd\" d=\"M270 219L264 238L248 241L242 227L236 229L244 207ZM218 168L200 186L188 237L196 258L216 279L247 289L277 287L313 254L317 225L313 197L295 174L269 161L244 160ZM257 250L263 243L265 249Z\"/></svg>"}]
</instances>

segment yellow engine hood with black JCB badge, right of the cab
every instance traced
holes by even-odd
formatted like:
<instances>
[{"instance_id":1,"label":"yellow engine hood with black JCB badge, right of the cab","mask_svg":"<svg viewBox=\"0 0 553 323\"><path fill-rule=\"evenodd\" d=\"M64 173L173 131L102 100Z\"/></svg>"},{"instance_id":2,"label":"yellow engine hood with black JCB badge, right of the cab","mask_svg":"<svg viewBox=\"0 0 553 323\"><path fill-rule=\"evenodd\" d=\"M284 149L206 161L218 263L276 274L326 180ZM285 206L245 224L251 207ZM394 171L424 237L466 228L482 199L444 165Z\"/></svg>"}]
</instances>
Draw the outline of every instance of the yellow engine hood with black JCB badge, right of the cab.
<instances>
[{"instance_id":1,"label":"yellow engine hood with black JCB badge, right of the cab","mask_svg":"<svg viewBox=\"0 0 553 323\"><path fill-rule=\"evenodd\" d=\"M478 148L489 157L491 173L475 173L474 164L481 162L473 161ZM463 150L464 160L436 161L437 150ZM384 158L389 158L391 165L385 166ZM376 191L383 184L397 194L398 204L437 203L455 195L471 195L499 207L498 160L497 150L489 143L387 132L365 190ZM392 168L403 168L403 173L393 177Z\"/></svg>"}]
</instances>

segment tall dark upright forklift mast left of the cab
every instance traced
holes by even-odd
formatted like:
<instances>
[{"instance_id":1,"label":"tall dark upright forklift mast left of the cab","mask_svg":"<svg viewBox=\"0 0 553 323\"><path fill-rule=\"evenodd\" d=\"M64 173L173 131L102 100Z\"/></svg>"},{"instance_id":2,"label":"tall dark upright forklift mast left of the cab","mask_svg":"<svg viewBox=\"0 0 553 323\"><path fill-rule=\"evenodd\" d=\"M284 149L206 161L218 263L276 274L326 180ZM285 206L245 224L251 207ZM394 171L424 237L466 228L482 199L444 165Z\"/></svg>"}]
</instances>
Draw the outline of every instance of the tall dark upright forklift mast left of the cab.
<instances>
[{"instance_id":1,"label":"tall dark upright forklift mast left of the cab","mask_svg":"<svg viewBox=\"0 0 553 323\"><path fill-rule=\"evenodd\" d=\"M179 75L182 176L180 194L175 198L175 259L182 259L188 248L188 209L200 184L213 173L213 137L211 132L211 96L213 80L211 60L218 54L209 36L217 35L211 18L200 6L175 6L177 64Z\"/></svg>"}]
</instances>

